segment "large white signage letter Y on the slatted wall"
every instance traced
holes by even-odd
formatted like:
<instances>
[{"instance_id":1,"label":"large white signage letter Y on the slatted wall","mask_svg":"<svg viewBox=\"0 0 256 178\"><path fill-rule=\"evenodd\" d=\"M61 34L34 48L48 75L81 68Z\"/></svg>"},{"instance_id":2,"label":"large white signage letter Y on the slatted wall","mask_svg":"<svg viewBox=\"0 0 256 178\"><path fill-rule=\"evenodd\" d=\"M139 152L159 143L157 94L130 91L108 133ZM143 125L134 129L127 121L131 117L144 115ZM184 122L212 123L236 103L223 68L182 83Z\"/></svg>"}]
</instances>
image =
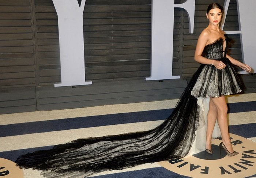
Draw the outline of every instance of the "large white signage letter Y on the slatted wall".
<instances>
[{"instance_id":1,"label":"large white signage letter Y on the slatted wall","mask_svg":"<svg viewBox=\"0 0 256 178\"><path fill-rule=\"evenodd\" d=\"M83 11L86 0L53 0L58 15L61 83L55 87L87 85L85 81Z\"/></svg>"}]
</instances>

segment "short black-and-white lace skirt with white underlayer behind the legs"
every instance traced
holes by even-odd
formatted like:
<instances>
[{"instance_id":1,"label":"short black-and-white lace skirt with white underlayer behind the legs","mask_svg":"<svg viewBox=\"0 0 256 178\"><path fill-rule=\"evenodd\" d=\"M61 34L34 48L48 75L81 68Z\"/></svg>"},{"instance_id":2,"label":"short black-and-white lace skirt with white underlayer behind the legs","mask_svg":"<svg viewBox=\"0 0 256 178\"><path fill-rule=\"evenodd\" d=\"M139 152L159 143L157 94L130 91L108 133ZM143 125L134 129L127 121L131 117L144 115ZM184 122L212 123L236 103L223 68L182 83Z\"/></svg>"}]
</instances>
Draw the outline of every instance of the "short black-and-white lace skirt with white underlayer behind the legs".
<instances>
[{"instance_id":1,"label":"short black-and-white lace skirt with white underlayer behind the legs","mask_svg":"<svg viewBox=\"0 0 256 178\"><path fill-rule=\"evenodd\" d=\"M233 68L233 64L228 58L220 59L227 66L219 70L214 65L202 64L191 83L195 83L191 95L197 98L199 106L199 126L195 131L195 140L193 141L190 155L204 151L206 148L206 128L207 114L209 110L210 97L219 97L221 95L236 94L241 92L241 82ZM215 123L212 138L221 137L221 132L217 122Z\"/></svg>"}]
</instances>

